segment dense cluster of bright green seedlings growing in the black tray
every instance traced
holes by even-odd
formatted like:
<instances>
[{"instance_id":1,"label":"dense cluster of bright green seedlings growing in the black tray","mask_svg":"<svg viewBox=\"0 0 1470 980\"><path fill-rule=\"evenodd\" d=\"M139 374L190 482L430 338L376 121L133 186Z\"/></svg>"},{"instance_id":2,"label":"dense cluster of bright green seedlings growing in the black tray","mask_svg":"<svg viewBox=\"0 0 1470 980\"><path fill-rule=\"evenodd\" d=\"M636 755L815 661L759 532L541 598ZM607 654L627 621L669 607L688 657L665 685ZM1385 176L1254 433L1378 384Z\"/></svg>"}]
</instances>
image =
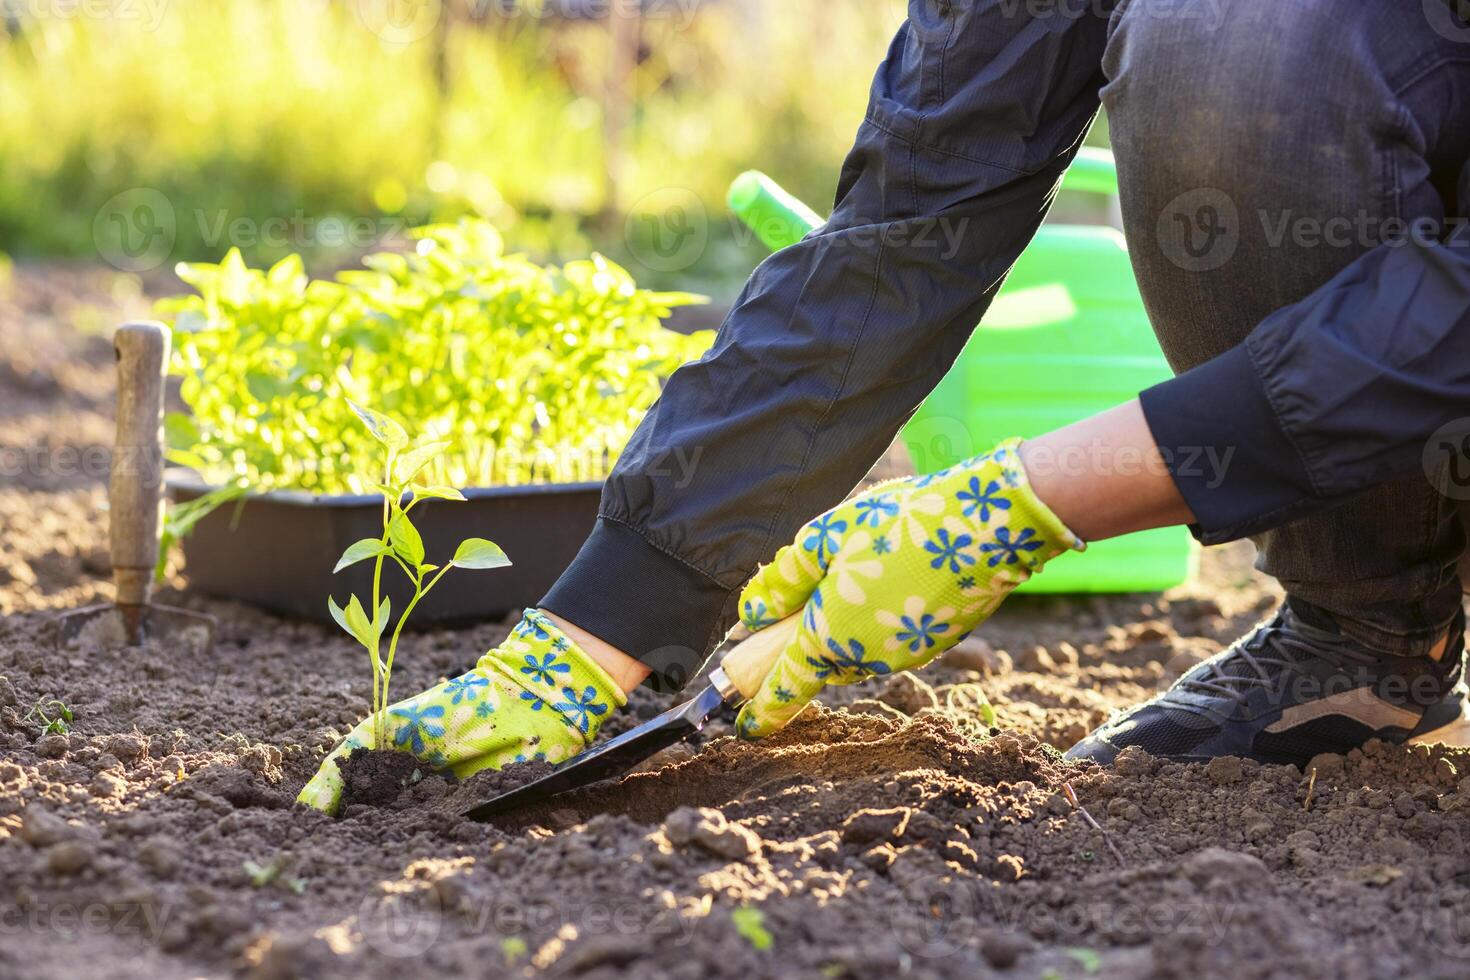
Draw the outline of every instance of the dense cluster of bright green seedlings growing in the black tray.
<instances>
[{"instance_id":1,"label":"dense cluster of bright green seedlings growing in the black tray","mask_svg":"<svg viewBox=\"0 0 1470 980\"><path fill-rule=\"evenodd\" d=\"M165 420L169 460L213 486L366 494L378 448L351 400L453 441L426 482L600 480L713 341L663 326L703 297L639 289L603 256L539 266L469 219L416 235L335 279L295 256L250 269L237 250L181 264L197 294L159 304L190 408Z\"/></svg>"}]
</instances>

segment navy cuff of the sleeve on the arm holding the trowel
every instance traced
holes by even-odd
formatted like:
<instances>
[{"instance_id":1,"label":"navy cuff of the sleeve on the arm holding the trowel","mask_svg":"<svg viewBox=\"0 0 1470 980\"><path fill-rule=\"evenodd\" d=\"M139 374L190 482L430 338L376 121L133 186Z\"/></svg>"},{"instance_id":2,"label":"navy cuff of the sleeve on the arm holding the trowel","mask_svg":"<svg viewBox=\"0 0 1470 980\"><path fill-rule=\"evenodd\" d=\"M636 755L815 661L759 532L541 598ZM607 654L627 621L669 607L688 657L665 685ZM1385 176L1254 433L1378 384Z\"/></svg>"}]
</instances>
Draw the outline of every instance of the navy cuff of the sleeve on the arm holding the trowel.
<instances>
[{"instance_id":1,"label":"navy cuff of the sleeve on the arm holding the trowel","mask_svg":"<svg viewBox=\"0 0 1470 980\"><path fill-rule=\"evenodd\" d=\"M1204 544L1274 527L1314 498L1245 344L1139 395Z\"/></svg>"}]
</instances>

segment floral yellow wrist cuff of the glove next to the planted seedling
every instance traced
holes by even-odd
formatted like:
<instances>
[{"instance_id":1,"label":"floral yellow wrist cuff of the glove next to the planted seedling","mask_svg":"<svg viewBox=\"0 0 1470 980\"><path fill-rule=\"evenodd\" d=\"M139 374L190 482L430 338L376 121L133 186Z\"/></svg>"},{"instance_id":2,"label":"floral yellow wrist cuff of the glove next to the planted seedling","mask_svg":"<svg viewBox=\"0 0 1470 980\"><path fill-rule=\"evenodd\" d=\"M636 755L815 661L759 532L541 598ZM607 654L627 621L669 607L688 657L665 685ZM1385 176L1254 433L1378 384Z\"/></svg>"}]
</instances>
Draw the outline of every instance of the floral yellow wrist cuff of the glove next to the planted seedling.
<instances>
[{"instance_id":1,"label":"floral yellow wrist cuff of the glove next to the planted seedling","mask_svg":"<svg viewBox=\"0 0 1470 980\"><path fill-rule=\"evenodd\" d=\"M603 721L628 704L628 695L587 651L539 610L526 610L504 644L479 658L516 688L581 733L588 745Z\"/></svg>"}]
</instances>

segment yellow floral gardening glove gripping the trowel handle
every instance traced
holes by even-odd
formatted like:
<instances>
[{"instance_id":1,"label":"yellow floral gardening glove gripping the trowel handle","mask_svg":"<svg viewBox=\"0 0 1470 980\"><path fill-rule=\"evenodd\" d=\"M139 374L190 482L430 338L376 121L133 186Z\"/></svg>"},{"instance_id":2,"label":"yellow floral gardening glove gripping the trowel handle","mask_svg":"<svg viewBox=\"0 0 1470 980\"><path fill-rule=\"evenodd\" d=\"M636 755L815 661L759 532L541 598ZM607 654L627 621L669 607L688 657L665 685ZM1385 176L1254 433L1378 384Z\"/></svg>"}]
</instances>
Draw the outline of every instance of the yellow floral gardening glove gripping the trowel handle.
<instances>
[{"instance_id":1,"label":"yellow floral gardening glove gripping the trowel handle","mask_svg":"<svg viewBox=\"0 0 1470 980\"><path fill-rule=\"evenodd\" d=\"M826 685L922 667L1055 555L1085 545L1030 491L1020 439L822 514L741 594L750 630L801 613L741 711L742 738L785 727Z\"/></svg>"}]
</instances>

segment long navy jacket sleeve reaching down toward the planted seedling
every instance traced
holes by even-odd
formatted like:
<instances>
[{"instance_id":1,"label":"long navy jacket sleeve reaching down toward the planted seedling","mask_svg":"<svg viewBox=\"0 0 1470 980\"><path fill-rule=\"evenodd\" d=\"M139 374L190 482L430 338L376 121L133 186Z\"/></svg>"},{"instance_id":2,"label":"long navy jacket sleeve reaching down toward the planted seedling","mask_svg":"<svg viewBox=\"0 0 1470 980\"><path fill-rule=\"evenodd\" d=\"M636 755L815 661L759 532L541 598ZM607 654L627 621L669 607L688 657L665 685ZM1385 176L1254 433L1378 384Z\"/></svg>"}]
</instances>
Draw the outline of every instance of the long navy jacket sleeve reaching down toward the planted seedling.
<instances>
[{"instance_id":1,"label":"long navy jacket sleeve reaching down toward the planted seedling","mask_svg":"<svg viewBox=\"0 0 1470 980\"><path fill-rule=\"evenodd\" d=\"M698 669L754 569L886 450L1041 223L1097 113L1107 16L1028 6L913 0L831 220L760 266L607 482L542 605L656 686Z\"/></svg>"}]
</instances>

